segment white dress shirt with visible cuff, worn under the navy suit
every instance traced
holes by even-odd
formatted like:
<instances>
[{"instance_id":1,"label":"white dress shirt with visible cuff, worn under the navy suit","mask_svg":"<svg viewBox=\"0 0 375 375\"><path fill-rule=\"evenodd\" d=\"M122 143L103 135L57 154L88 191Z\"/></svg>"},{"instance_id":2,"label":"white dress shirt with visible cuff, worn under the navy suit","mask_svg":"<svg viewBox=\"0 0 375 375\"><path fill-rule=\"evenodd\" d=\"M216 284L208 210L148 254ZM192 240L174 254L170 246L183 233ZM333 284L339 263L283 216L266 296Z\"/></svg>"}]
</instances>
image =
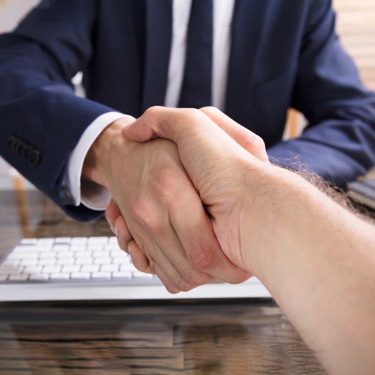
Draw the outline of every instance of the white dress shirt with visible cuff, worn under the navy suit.
<instances>
[{"instance_id":1,"label":"white dress shirt with visible cuff, worn under the navy suit","mask_svg":"<svg viewBox=\"0 0 375 375\"><path fill-rule=\"evenodd\" d=\"M212 105L224 109L225 89L228 73L231 22L234 0L214 0L213 14L213 61L212 61ZM177 107L184 76L188 21L191 0L173 0L172 45L169 56L168 81L164 106ZM71 153L65 183L72 196L72 204L80 203L93 210L104 210L110 200L111 193L97 184L81 186L82 166L91 145L99 134L113 121L129 117L119 112L104 113L96 118L83 132L78 144Z\"/></svg>"}]
</instances>

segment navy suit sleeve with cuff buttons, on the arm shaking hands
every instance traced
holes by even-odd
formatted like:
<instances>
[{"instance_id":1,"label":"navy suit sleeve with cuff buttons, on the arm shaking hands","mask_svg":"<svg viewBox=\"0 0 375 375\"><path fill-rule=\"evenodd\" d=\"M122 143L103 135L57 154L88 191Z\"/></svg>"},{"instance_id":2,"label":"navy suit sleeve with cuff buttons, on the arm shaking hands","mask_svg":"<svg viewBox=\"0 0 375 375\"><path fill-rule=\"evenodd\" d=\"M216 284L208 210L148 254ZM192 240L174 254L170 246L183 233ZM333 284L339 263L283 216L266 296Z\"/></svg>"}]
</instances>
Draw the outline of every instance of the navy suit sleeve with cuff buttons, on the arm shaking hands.
<instances>
[{"instance_id":1,"label":"navy suit sleeve with cuff buttons, on the arm shaking hands","mask_svg":"<svg viewBox=\"0 0 375 375\"><path fill-rule=\"evenodd\" d=\"M68 159L86 127L113 111L71 84L90 60L96 13L95 1L44 0L0 36L0 154L80 221L101 213L65 204Z\"/></svg>"}]
</instances>

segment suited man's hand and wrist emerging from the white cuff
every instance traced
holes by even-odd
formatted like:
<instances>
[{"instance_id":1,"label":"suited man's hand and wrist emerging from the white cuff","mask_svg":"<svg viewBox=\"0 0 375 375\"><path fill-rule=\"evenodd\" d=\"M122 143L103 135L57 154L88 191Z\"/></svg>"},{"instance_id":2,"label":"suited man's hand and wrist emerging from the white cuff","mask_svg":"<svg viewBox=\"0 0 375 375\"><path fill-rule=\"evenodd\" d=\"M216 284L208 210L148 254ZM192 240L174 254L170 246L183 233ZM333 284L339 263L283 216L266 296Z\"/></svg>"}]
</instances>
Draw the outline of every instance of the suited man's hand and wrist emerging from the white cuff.
<instances>
[{"instance_id":1,"label":"suited man's hand and wrist emerging from the white cuff","mask_svg":"<svg viewBox=\"0 0 375 375\"><path fill-rule=\"evenodd\" d=\"M126 249L129 243L134 265L156 273L171 293L249 278L222 252L176 145L163 139L129 142L121 136L125 125L117 120L102 132L83 176L111 191L125 219L122 227L114 225L127 233L119 244Z\"/></svg>"}]
</instances>

